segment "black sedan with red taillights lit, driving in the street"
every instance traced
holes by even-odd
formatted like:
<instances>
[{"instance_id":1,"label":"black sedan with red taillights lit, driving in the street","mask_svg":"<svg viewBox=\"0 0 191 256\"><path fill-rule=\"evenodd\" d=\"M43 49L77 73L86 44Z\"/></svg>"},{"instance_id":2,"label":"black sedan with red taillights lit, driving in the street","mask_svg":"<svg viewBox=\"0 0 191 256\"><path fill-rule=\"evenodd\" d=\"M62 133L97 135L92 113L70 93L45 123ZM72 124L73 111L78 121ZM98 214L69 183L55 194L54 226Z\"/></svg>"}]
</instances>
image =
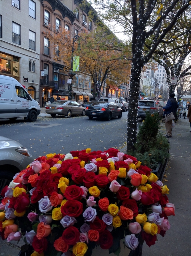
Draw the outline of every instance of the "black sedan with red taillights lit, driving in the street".
<instances>
[{"instance_id":1,"label":"black sedan with red taillights lit, driving in the street","mask_svg":"<svg viewBox=\"0 0 191 256\"><path fill-rule=\"evenodd\" d=\"M90 106L86 107L86 115L89 119L106 118L111 120L112 117L122 117L122 109L113 102L95 101Z\"/></svg>"}]
</instances>

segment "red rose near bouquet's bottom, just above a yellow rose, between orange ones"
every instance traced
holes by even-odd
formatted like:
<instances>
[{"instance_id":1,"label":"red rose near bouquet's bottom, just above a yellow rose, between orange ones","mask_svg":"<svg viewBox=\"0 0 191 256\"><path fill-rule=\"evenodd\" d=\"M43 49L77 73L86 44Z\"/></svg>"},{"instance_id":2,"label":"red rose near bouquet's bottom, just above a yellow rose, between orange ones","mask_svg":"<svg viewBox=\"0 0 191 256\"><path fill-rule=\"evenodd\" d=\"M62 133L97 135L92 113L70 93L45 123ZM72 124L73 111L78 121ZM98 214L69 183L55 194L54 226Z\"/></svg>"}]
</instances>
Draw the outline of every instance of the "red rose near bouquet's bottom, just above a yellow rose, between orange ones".
<instances>
[{"instance_id":1,"label":"red rose near bouquet's bottom, just above a yellow rose, between orange ones","mask_svg":"<svg viewBox=\"0 0 191 256\"><path fill-rule=\"evenodd\" d=\"M75 245L80 240L80 232L78 228L66 228L62 234L62 239L67 245Z\"/></svg>"}]
</instances>

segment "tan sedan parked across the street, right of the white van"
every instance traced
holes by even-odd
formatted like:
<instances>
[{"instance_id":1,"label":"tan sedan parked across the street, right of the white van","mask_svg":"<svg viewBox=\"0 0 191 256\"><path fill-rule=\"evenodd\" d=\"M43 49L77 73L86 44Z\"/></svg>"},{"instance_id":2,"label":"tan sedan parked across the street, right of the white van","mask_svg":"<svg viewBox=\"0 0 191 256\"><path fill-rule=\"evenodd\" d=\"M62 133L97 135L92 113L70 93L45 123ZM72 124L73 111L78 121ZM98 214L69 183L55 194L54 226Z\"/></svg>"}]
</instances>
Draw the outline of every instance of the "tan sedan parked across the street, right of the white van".
<instances>
[{"instance_id":1,"label":"tan sedan parked across the street, right of the white van","mask_svg":"<svg viewBox=\"0 0 191 256\"><path fill-rule=\"evenodd\" d=\"M52 104L46 106L46 113L53 118L56 115L86 115L86 109L76 101L54 101Z\"/></svg>"}]
</instances>

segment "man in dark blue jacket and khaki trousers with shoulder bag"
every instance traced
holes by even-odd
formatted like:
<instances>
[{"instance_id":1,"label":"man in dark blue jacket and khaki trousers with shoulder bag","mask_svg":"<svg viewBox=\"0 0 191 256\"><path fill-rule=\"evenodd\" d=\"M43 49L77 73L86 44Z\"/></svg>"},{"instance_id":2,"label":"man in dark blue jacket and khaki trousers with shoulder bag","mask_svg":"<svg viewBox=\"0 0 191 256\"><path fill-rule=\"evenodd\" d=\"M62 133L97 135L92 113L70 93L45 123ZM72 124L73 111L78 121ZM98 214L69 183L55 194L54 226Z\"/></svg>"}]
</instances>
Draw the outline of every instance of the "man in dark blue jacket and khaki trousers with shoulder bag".
<instances>
[{"instance_id":1,"label":"man in dark blue jacket and khaki trousers with shoulder bag","mask_svg":"<svg viewBox=\"0 0 191 256\"><path fill-rule=\"evenodd\" d=\"M173 112L175 119L177 119L176 110L178 108L178 104L177 104L177 101L174 98L174 96L175 96L174 93L170 94L170 98L167 101L166 106L163 107L163 109L165 110L165 112L164 112L165 115L168 115L171 112ZM172 120L166 121L166 119L165 119L165 127L166 127L166 133L167 133L167 135L165 135L165 137L172 138Z\"/></svg>"}]
</instances>

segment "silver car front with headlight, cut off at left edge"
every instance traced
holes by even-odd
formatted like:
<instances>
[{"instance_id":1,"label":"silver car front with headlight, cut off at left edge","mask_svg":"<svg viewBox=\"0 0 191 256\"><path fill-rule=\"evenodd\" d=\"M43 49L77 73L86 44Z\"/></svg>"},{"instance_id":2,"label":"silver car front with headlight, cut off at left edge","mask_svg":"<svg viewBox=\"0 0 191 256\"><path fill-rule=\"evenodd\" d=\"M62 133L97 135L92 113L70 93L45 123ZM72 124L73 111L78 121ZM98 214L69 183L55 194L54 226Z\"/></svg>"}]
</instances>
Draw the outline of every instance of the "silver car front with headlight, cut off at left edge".
<instances>
[{"instance_id":1,"label":"silver car front with headlight, cut off at left edge","mask_svg":"<svg viewBox=\"0 0 191 256\"><path fill-rule=\"evenodd\" d=\"M33 161L27 148L18 141L0 136L0 193L14 175Z\"/></svg>"}]
</instances>

